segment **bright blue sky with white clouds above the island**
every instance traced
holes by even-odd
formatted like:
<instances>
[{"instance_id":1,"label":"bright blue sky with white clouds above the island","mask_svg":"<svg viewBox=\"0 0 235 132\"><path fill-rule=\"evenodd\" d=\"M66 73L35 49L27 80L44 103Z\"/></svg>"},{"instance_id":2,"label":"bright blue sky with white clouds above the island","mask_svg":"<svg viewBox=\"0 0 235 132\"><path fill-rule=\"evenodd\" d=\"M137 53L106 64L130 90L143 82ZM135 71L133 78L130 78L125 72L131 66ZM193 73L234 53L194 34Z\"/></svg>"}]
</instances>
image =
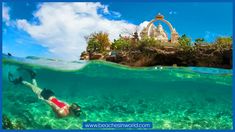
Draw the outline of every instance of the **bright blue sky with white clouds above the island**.
<instances>
[{"instance_id":1,"label":"bright blue sky with white clouds above the island","mask_svg":"<svg viewBox=\"0 0 235 132\"><path fill-rule=\"evenodd\" d=\"M232 3L7 2L3 9L3 53L79 59L84 36L105 31L114 39L131 32L157 13L164 15L180 35L205 38L232 36ZM157 24L156 22L155 24ZM169 33L169 28L162 23Z\"/></svg>"}]
</instances>

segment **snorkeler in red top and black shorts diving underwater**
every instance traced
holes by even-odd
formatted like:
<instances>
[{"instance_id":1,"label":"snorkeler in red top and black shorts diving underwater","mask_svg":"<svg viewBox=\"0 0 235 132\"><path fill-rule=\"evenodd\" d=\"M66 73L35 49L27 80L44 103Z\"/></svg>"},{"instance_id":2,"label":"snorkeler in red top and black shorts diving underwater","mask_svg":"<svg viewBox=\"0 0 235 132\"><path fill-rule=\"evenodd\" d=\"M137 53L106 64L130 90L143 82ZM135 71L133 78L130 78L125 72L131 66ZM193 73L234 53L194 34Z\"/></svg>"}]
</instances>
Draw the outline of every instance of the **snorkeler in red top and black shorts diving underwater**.
<instances>
[{"instance_id":1,"label":"snorkeler in red top and black shorts diving underwater","mask_svg":"<svg viewBox=\"0 0 235 132\"><path fill-rule=\"evenodd\" d=\"M20 69L18 69L20 70ZM30 69L24 69L29 72L32 79L32 83L23 80L22 77L14 78L12 73L8 73L8 79L13 84L23 84L32 89L32 91L38 96L39 99L45 101L51 106L53 111L58 117L66 117L68 115L80 116L81 109L76 103L68 105L66 102L62 102L55 97L55 94L50 89L41 89L37 86L35 79L36 73Z\"/></svg>"}]
</instances>

